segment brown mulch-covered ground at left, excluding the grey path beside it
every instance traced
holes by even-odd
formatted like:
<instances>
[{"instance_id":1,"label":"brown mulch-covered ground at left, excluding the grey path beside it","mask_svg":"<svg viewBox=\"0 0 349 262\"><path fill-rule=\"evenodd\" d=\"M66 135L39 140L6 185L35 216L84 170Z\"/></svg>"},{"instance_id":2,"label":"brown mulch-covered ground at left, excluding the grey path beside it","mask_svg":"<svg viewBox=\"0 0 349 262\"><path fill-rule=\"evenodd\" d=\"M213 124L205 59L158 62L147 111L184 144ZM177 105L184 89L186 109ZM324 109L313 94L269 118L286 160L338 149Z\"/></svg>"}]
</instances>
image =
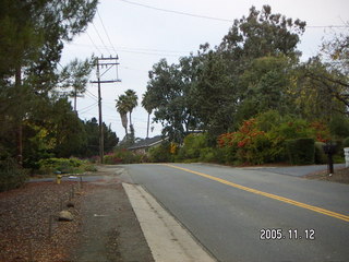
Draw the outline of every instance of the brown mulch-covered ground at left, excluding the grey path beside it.
<instances>
[{"instance_id":1,"label":"brown mulch-covered ground at left, excluding the grey path beside it","mask_svg":"<svg viewBox=\"0 0 349 262\"><path fill-rule=\"evenodd\" d=\"M28 183L0 193L0 261L64 261L76 243L79 219L58 223L57 213L71 198L72 183ZM79 217L81 198L74 198Z\"/></svg>"}]
</instances>

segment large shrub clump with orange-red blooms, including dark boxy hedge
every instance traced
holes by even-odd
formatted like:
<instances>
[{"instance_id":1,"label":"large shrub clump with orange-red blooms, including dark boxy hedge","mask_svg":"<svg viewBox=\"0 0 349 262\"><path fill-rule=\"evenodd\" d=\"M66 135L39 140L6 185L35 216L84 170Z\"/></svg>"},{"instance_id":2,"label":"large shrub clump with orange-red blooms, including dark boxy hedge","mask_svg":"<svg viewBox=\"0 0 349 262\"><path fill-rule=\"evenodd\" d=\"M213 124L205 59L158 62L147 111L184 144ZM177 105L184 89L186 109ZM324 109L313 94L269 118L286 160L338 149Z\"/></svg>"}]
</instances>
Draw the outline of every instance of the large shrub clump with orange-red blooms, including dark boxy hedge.
<instances>
[{"instance_id":1,"label":"large shrub clump with orange-red blooms, including dark boxy hedge","mask_svg":"<svg viewBox=\"0 0 349 262\"><path fill-rule=\"evenodd\" d=\"M228 164L264 164L289 162L294 165L324 162L324 153L314 141L330 139L328 128L321 122L309 123L291 116L267 111L244 121L238 131L218 138L220 148L230 148Z\"/></svg>"}]
</instances>

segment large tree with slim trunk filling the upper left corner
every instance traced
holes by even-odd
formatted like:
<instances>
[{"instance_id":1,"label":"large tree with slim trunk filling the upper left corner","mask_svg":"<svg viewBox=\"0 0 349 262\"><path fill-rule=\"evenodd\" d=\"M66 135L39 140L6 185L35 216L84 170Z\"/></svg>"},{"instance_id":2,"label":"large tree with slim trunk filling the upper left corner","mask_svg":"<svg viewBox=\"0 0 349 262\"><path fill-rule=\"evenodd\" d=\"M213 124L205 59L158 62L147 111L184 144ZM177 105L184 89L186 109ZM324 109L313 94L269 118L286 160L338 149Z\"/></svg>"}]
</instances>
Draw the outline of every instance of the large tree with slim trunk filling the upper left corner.
<instances>
[{"instance_id":1,"label":"large tree with slim trunk filling the upper left corner","mask_svg":"<svg viewBox=\"0 0 349 262\"><path fill-rule=\"evenodd\" d=\"M86 29L97 0L3 0L0 4L0 99L4 98L0 111L16 127L21 162L23 119L38 102L52 98L63 41Z\"/></svg>"}]
</instances>

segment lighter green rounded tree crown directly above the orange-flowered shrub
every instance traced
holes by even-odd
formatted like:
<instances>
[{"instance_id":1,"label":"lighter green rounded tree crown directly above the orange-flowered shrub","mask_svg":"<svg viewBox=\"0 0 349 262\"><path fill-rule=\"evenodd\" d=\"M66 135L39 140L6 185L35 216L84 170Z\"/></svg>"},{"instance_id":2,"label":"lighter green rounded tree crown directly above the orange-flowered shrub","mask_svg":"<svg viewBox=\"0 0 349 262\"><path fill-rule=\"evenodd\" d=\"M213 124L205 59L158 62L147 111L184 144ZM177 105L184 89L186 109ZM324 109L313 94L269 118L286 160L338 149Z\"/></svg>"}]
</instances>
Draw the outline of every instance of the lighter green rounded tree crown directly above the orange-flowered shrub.
<instances>
[{"instance_id":1,"label":"lighter green rounded tree crown directly above the orange-flowered shrub","mask_svg":"<svg viewBox=\"0 0 349 262\"><path fill-rule=\"evenodd\" d=\"M291 86L294 62L285 55L254 59L240 75L241 102L236 121L239 123L256 114L277 110L294 112Z\"/></svg>"}]
</instances>

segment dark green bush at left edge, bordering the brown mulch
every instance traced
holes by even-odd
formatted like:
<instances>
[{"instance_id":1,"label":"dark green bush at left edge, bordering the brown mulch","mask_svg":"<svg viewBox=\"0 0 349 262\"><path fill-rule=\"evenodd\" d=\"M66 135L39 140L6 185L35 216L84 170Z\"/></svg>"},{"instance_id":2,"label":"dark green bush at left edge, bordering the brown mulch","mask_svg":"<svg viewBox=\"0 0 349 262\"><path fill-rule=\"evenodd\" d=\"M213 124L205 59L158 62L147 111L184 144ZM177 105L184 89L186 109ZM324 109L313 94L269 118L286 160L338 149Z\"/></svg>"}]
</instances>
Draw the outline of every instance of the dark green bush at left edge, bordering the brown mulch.
<instances>
[{"instance_id":1,"label":"dark green bush at left edge, bordering the brown mulch","mask_svg":"<svg viewBox=\"0 0 349 262\"><path fill-rule=\"evenodd\" d=\"M21 187L27 178L27 172L14 159L0 160L0 192Z\"/></svg>"}]
</instances>

